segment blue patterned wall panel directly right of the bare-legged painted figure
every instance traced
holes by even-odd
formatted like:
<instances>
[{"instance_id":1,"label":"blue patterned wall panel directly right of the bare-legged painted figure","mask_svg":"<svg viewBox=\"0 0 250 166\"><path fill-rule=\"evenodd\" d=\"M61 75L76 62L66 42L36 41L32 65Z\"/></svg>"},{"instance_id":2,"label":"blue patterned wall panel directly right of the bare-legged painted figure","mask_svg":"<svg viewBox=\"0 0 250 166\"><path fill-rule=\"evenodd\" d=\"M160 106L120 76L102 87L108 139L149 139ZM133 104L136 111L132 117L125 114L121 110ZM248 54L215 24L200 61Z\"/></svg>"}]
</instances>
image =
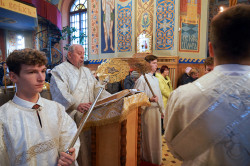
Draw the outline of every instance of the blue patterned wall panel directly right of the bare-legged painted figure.
<instances>
[{"instance_id":1,"label":"blue patterned wall panel directly right of the bare-legged painted figure","mask_svg":"<svg viewBox=\"0 0 250 166\"><path fill-rule=\"evenodd\" d=\"M126 6L118 4L117 8L117 49L132 51L132 0Z\"/></svg>"}]
</instances>

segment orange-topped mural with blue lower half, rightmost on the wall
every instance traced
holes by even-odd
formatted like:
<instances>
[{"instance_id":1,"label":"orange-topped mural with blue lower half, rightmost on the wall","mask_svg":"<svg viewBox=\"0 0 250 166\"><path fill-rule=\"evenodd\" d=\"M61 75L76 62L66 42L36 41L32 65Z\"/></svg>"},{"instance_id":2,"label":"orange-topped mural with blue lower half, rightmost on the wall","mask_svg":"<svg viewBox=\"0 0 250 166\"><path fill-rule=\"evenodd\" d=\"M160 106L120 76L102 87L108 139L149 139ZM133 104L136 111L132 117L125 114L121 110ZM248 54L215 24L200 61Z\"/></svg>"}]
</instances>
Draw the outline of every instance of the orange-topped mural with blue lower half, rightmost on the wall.
<instances>
[{"instance_id":1,"label":"orange-topped mural with blue lower half, rightmost on the wall","mask_svg":"<svg viewBox=\"0 0 250 166\"><path fill-rule=\"evenodd\" d=\"M182 0L180 3L180 52L199 52L201 0Z\"/></svg>"}]
</instances>

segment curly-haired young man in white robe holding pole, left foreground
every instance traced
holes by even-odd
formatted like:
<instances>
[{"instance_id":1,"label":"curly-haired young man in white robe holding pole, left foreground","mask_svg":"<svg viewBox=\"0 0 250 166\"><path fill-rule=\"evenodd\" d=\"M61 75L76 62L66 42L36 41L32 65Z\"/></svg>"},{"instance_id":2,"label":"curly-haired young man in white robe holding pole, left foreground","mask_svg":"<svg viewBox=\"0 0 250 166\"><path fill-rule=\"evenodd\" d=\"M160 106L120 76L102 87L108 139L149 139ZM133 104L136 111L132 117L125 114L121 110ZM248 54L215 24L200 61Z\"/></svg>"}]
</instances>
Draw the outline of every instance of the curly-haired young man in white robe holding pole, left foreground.
<instances>
[{"instance_id":1,"label":"curly-haired young man in white robe holding pole, left foreground","mask_svg":"<svg viewBox=\"0 0 250 166\"><path fill-rule=\"evenodd\" d=\"M64 107L44 99L39 92L45 83L44 53L15 50L7 58L11 80L17 91L0 107L0 165L71 165L80 141L65 153L77 128Z\"/></svg>"}]
</instances>

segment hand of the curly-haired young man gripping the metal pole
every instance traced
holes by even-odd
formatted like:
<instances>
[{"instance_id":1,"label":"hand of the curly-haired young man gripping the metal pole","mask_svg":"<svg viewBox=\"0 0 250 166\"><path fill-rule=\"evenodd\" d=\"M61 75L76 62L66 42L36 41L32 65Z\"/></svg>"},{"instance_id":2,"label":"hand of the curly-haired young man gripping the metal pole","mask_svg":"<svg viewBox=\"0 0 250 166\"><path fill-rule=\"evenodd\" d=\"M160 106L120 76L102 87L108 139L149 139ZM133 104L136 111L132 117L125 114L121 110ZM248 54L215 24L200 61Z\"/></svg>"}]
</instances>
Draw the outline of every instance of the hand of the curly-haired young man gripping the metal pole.
<instances>
[{"instance_id":1,"label":"hand of the curly-haired young man gripping the metal pole","mask_svg":"<svg viewBox=\"0 0 250 166\"><path fill-rule=\"evenodd\" d=\"M71 155L65 152L60 153L60 158L58 160L57 166L70 166L74 163L76 157L75 148L70 148L69 152L71 153Z\"/></svg>"}]
</instances>

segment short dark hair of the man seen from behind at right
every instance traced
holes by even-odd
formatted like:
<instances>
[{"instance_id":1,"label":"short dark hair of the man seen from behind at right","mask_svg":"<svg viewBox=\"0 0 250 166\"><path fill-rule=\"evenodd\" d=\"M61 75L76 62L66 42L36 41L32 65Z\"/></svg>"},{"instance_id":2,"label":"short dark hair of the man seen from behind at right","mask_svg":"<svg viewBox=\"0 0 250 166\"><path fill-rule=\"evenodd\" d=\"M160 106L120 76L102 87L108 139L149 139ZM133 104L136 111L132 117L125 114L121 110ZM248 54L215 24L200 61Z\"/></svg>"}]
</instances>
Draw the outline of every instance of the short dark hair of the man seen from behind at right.
<instances>
[{"instance_id":1,"label":"short dark hair of the man seen from behind at right","mask_svg":"<svg viewBox=\"0 0 250 166\"><path fill-rule=\"evenodd\" d=\"M213 18L210 39L216 59L232 64L250 61L249 15L249 5L237 5Z\"/></svg>"}]
</instances>

